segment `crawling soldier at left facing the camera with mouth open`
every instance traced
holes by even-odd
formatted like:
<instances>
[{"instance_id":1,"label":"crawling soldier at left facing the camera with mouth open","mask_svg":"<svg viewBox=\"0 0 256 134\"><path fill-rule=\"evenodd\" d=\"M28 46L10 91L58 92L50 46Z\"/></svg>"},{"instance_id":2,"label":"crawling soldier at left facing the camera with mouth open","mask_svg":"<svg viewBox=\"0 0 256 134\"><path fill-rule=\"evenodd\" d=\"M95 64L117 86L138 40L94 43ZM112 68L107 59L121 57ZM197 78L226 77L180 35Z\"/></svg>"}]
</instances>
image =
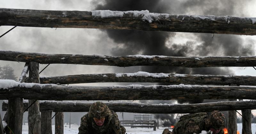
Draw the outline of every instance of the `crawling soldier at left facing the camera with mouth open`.
<instances>
[{"instance_id":1,"label":"crawling soldier at left facing the camera with mouth open","mask_svg":"<svg viewBox=\"0 0 256 134\"><path fill-rule=\"evenodd\" d=\"M89 112L81 118L78 130L78 134L125 134L117 114L100 101L93 103Z\"/></svg>"}]
</instances>

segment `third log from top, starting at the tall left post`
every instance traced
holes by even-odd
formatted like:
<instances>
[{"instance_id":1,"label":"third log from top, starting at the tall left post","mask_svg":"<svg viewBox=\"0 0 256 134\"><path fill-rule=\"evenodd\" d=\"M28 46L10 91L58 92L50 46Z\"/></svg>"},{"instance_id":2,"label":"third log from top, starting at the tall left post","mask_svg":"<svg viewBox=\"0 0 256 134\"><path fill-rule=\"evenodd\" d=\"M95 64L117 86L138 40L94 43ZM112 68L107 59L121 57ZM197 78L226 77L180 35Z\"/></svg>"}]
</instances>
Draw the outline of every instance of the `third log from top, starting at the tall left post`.
<instances>
[{"instance_id":1,"label":"third log from top, starting at the tall left post","mask_svg":"<svg viewBox=\"0 0 256 134\"><path fill-rule=\"evenodd\" d=\"M170 84L192 85L243 85L256 86L256 77L232 76L232 75L186 75L167 73L104 73L104 74L81 74L55 77L40 77L41 84L77 84L98 82L153 82Z\"/></svg>"}]
</instances>

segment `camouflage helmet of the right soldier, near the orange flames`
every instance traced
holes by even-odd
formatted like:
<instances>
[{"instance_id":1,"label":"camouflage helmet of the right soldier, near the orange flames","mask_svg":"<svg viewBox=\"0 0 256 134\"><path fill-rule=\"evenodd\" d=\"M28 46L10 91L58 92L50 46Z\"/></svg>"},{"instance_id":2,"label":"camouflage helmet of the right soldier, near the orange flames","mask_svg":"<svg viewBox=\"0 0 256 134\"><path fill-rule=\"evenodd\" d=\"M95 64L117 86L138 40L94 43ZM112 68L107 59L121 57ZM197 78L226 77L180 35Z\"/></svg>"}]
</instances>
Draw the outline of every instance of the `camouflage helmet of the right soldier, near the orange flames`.
<instances>
[{"instance_id":1,"label":"camouflage helmet of the right soldier, near the orange flames","mask_svg":"<svg viewBox=\"0 0 256 134\"><path fill-rule=\"evenodd\" d=\"M220 111L213 111L205 120L205 125L214 129L223 129L225 121L225 116Z\"/></svg>"}]
</instances>

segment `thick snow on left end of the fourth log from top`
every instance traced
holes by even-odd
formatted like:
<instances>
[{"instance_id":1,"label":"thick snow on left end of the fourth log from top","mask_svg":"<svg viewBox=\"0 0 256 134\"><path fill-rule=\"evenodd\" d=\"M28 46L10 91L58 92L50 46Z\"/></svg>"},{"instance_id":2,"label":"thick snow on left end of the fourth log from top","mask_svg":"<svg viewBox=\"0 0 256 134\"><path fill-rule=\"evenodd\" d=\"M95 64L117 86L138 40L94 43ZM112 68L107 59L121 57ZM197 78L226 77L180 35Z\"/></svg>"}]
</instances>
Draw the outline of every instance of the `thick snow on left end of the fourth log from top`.
<instances>
[{"instance_id":1,"label":"thick snow on left end of the fourth log from top","mask_svg":"<svg viewBox=\"0 0 256 134\"><path fill-rule=\"evenodd\" d=\"M44 86L58 86L56 84L38 84L38 83L19 83L15 80L12 79L0 79L0 90L1 89L9 89L12 87L26 87L26 88L31 88L33 86L40 86L40 88L43 88Z\"/></svg>"}]
</instances>

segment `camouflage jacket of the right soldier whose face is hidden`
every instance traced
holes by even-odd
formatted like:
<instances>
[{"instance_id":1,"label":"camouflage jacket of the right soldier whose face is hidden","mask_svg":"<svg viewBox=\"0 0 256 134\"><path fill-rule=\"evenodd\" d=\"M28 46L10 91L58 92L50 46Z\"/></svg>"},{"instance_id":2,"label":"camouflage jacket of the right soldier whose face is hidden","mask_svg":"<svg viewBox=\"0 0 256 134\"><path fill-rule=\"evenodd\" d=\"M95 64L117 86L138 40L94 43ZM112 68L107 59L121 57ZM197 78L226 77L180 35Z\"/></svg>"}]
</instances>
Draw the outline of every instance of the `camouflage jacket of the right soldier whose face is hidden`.
<instances>
[{"instance_id":1,"label":"camouflage jacket of the right soldier whose face is hidden","mask_svg":"<svg viewBox=\"0 0 256 134\"><path fill-rule=\"evenodd\" d=\"M208 116L206 113L183 115L180 117L180 121L174 125L172 134L199 134L202 130L208 131L209 128L205 127L205 120ZM220 131L218 134L224 134L224 131Z\"/></svg>"}]
</instances>

